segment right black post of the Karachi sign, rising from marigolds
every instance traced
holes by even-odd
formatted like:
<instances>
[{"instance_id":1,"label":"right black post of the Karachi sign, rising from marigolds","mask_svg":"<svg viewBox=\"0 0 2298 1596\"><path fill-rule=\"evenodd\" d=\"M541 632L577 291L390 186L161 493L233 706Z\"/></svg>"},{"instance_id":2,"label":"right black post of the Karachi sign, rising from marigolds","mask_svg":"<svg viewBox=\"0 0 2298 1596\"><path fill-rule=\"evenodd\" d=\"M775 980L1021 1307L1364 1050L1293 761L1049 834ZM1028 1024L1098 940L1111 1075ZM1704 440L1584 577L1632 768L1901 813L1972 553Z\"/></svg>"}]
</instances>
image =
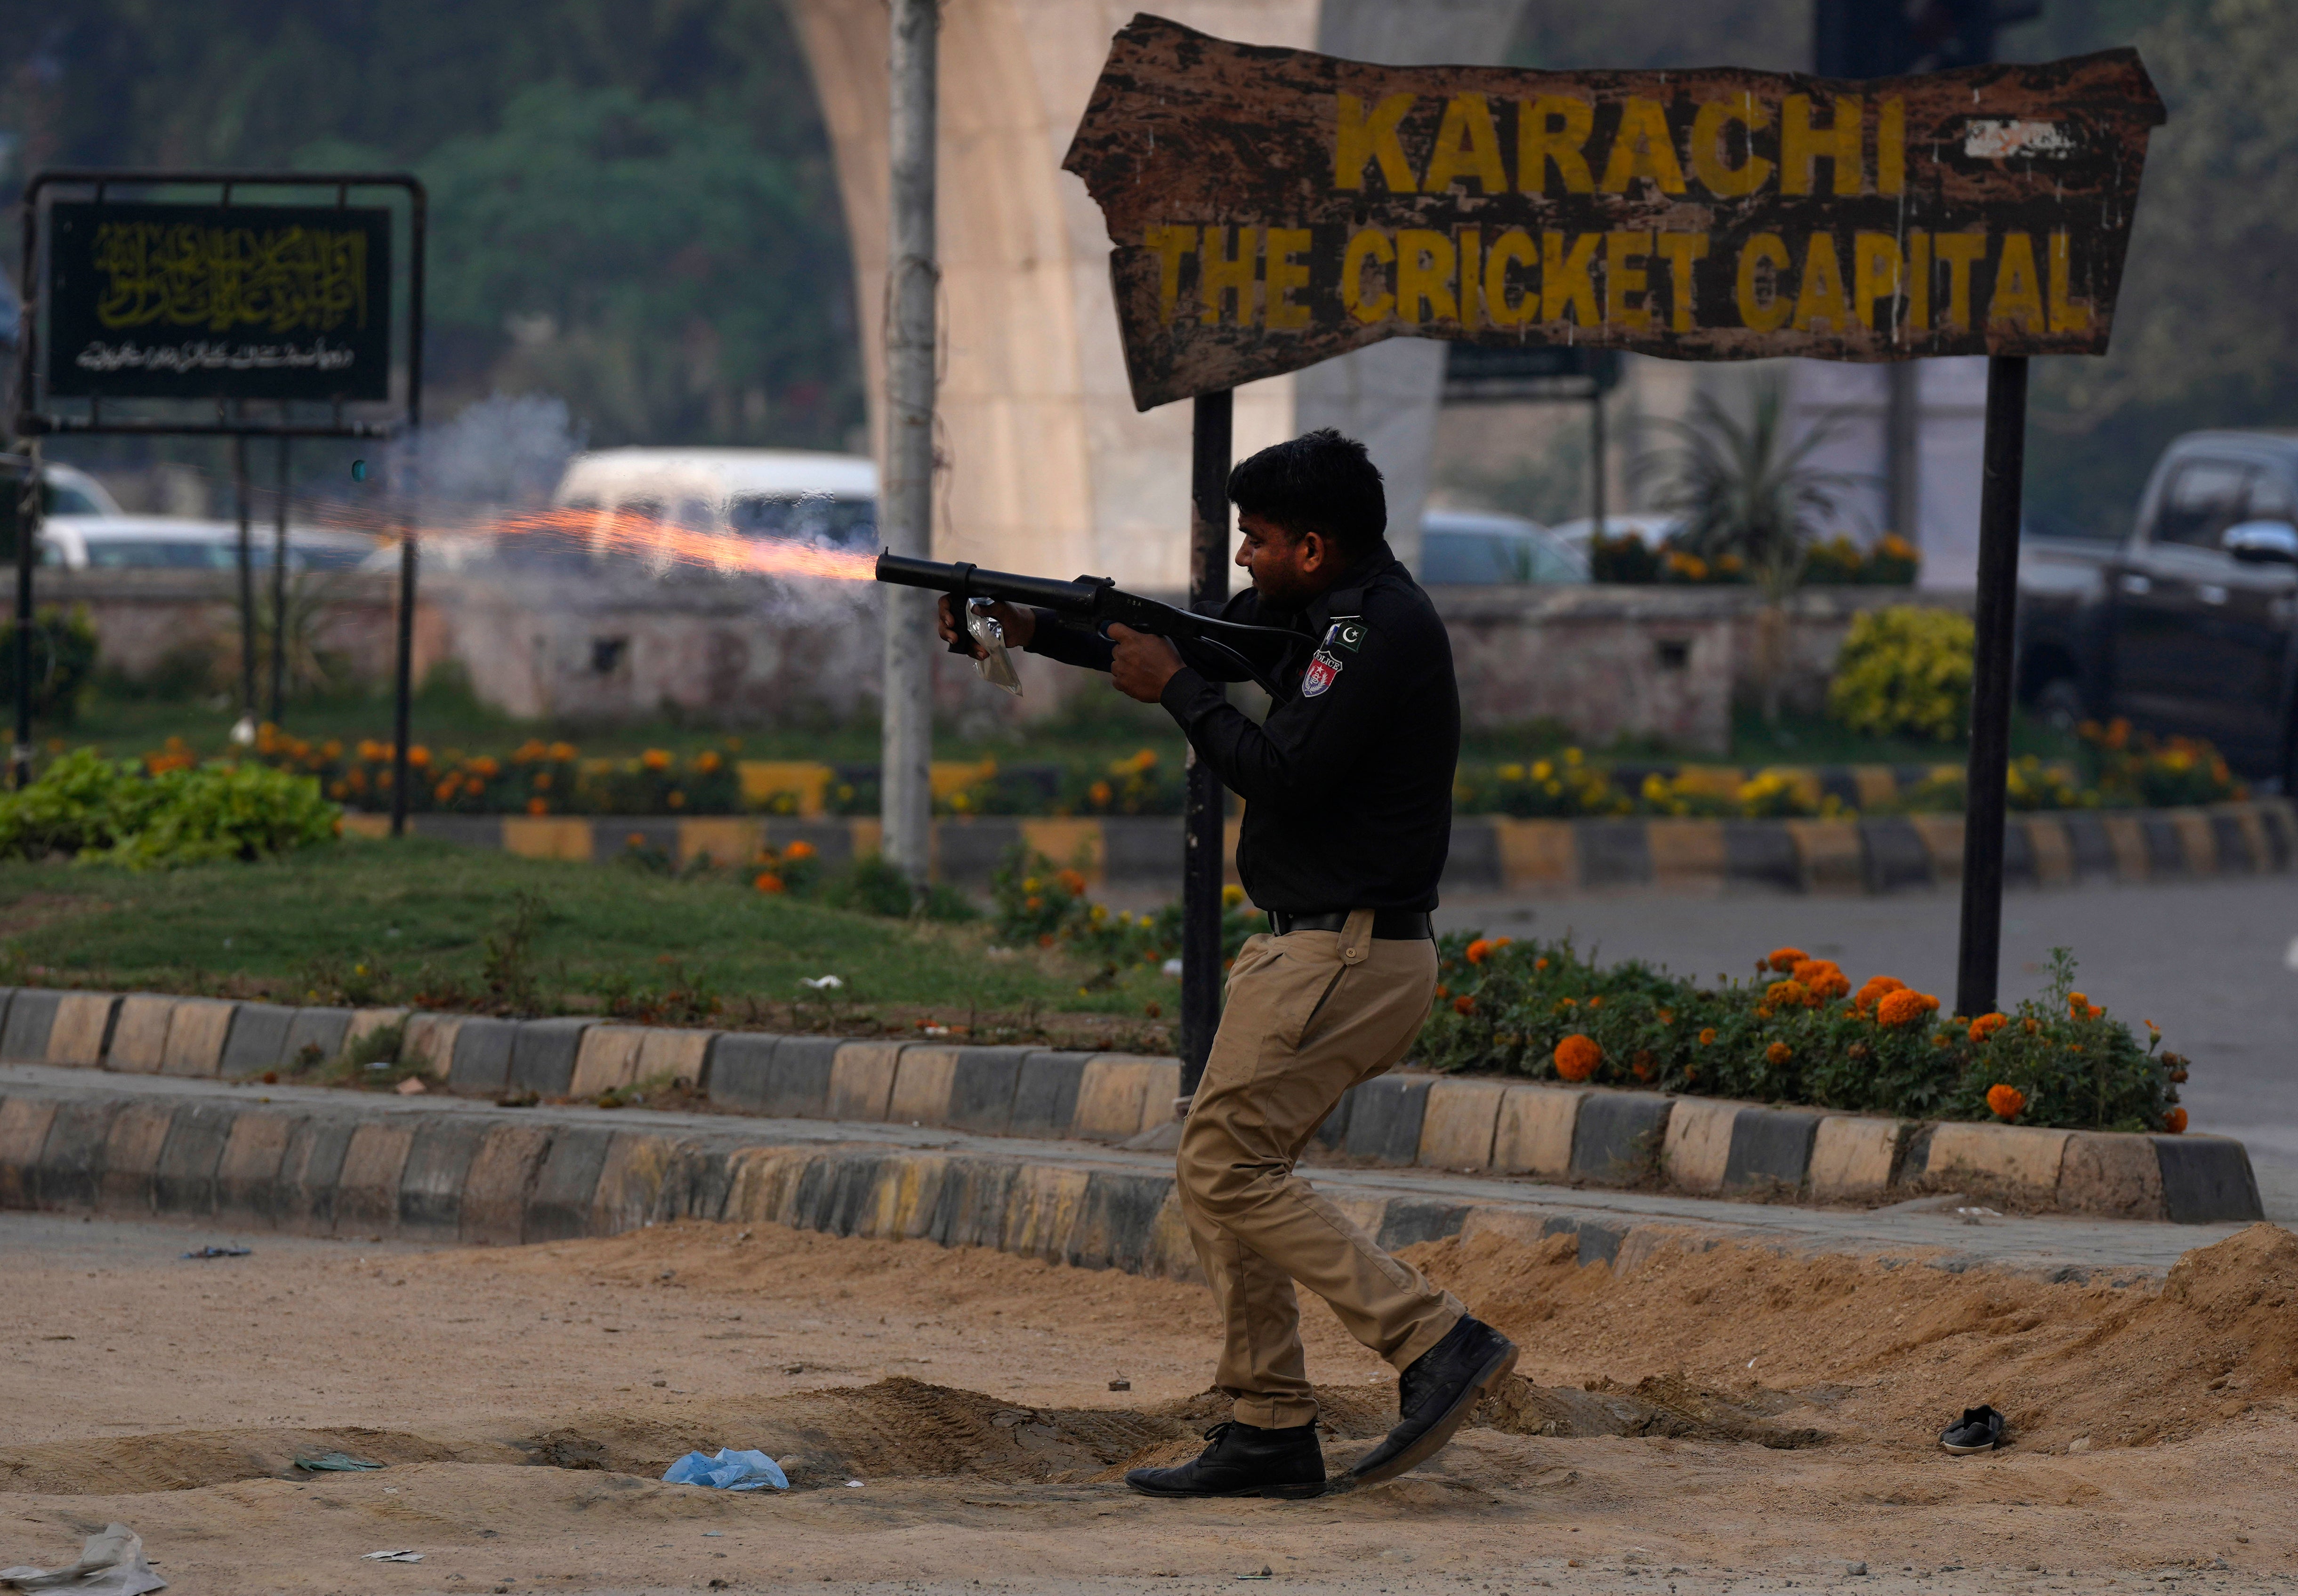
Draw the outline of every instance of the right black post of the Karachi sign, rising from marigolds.
<instances>
[{"instance_id":1,"label":"right black post of the Karachi sign, rising from marigolds","mask_svg":"<svg viewBox=\"0 0 2298 1596\"><path fill-rule=\"evenodd\" d=\"M1995 356L1988 361L1988 441L1979 478L1972 765L1962 811L1962 948L1956 960L1956 1013L1969 1017L1992 1013L2002 967L2004 783L2011 774L2011 650L2025 468L2027 356Z\"/></svg>"}]
</instances>

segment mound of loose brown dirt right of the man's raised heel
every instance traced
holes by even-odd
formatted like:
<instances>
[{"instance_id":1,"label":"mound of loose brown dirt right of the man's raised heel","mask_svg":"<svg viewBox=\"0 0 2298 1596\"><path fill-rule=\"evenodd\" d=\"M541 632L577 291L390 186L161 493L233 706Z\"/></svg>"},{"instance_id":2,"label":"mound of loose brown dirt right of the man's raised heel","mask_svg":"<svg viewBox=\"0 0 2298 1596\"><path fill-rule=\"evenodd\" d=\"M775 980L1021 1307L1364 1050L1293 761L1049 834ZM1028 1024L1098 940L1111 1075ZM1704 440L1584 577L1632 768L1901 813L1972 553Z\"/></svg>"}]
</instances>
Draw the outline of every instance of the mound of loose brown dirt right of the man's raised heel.
<instances>
[{"instance_id":1,"label":"mound of loose brown dirt right of the man's raised heel","mask_svg":"<svg viewBox=\"0 0 2298 1596\"><path fill-rule=\"evenodd\" d=\"M1928 1447L1944 1417L1992 1401L2022 1442L2144 1444L2298 1387L2298 1238L2270 1224L2190 1252L2160 1286L1694 1240L1627 1277L1574 1254L1570 1235L1480 1235L1406 1256L1514 1337L1535 1380L1625 1392L1694 1426L1682 1433L1809 1444L1799 1435L1822 1438L1815 1426L1772 1421L1804 1401L1829 1431ZM1613 1385L1618 1373L1638 1385ZM1558 1424L1537 1433L1606 1421L1586 1403L1519 1405L1514 1424ZM1655 1424L1615 1433L1671 1433Z\"/></svg>"}]
</instances>

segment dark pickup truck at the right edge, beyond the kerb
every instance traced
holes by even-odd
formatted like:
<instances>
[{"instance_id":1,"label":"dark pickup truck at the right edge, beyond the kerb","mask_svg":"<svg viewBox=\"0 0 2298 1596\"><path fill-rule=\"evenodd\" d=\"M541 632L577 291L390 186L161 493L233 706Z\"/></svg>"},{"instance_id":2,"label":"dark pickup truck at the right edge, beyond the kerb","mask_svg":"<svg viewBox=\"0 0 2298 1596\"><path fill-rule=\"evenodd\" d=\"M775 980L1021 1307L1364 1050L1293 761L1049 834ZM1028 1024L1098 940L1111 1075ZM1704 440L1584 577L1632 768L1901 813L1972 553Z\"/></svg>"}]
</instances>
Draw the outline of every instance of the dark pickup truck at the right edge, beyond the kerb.
<instances>
[{"instance_id":1,"label":"dark pickup truck at the right edge, beyond the kerb","mask_svg":"<svg viewBox=\"0 0 2298 1596\"><path fill-rule=\"evenodd\" d=\"M2018 691L2298 790L2298 432L2190 432L2121 542L2020 540Z\"/></svg>"}]
</instances>

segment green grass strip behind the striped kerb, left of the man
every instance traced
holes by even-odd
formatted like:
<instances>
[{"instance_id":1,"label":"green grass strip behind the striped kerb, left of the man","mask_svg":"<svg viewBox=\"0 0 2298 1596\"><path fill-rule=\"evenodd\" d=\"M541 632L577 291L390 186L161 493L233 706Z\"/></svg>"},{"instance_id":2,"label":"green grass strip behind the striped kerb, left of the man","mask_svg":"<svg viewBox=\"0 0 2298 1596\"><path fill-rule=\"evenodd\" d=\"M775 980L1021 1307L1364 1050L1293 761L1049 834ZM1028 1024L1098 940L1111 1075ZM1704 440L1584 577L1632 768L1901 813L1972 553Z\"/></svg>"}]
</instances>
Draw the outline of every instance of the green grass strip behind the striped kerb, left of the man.
<instances>
[{"instance_id":1,"label":"green grass strip behind the striped kerb, left of the man","mask_svg":"<svg viewBox=\"0 0 2298 1596\"><path fill-rule=\"evenodd\" d=\"M1098 974L986 923L770 898L728 875L345 840L273 863L133 875L0 863L0 985L216 992L287 1004L625 1013L795 1031L965 1024L981 1040L1165 1052L1156 971ZM807 976L841 976L813 997ZM1092 990L1080 990L1092 987Z\"/></svg>"}]
</instances>

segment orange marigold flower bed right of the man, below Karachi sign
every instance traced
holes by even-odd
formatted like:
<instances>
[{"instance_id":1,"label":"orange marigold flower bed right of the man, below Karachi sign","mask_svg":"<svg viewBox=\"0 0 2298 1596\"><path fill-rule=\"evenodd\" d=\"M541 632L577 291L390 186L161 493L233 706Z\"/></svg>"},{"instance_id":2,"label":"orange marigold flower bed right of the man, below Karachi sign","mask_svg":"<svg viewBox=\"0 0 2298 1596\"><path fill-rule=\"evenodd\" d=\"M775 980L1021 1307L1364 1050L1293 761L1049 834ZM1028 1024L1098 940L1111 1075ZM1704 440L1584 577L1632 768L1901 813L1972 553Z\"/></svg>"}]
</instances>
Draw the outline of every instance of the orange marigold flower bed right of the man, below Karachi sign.
<instances>
[{"instance_id":1,"label":"orange marigold flower bed right of the man, below Karachi sign","mask_svg":"<svg viewBox=\"0 0 2298 1596\"><path fill-rule=\"evenodd\" d=\"M1530 1079L1797 1102L1900 1118L2179 1132L2188 1061L2052 983L2008 1013L1946 1015L1894 976L1774 948L1746 981L1597 967L1567 942L1441 939L1420 1061Z\"/></svg>"}]
</instances>

